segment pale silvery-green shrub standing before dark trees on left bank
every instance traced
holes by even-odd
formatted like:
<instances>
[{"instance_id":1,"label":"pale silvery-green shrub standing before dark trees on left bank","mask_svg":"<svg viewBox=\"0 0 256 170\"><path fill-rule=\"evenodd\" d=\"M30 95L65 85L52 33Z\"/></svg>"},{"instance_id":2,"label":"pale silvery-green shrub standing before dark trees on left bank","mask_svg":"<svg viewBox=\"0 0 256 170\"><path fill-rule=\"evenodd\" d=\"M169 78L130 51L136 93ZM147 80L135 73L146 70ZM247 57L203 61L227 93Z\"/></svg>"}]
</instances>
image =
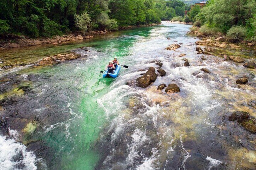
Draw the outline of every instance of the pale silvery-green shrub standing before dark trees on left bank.
<instances>
[{"instance_id":1,"label":"pale silvery-green shrub standing before dark trees on left bank","mask_svg":"<svg viewBox=\"0 0 256 170\"><path fill-rule=\"evenodd\" d=\"M87 28L90 26L90 24L91 18L86 11L80 15L75 15L75 26L78 27L83 34L87 31Z\"/></svg>"}]
</instances>

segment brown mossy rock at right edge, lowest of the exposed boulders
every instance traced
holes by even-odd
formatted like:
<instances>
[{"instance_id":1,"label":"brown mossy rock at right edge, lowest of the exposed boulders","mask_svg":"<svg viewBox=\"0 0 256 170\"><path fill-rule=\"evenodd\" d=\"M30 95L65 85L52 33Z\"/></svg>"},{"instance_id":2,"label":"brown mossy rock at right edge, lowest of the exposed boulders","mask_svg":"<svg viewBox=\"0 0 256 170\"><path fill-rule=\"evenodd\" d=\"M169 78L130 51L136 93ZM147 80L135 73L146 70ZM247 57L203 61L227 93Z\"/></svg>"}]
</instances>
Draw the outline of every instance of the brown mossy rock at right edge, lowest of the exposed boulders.
<instances>
[{"instance_id":1,"label":"brown mossy rock at right edge, lowest of the exposed boulders","mask_svg":"<svg viewBox=\"0 0 256 170\"><path fill-rule=\"evenodd\" d=\"M255 118L250 116L247 112L234 112L229 116L229 121L237 122L251 133L256 133L256 121Z\"/></svg>"}]
</instances>

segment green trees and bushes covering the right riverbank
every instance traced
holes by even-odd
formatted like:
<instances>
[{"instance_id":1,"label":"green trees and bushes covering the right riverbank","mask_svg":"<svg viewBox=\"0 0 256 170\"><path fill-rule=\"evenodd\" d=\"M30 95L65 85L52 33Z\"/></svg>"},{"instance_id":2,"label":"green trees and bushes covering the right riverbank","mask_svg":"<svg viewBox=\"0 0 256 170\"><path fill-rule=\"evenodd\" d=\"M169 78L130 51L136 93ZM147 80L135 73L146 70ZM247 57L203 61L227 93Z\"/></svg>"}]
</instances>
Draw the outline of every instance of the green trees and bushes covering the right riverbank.
<instances>
[{"instance_id":1,"label":"green trees and bushes covering the right riverbank","mask_svg":"<svg viewBox=\"0 0 256 170\"><path fill-rule=\"evenodd\" d=\"M225 34L230 42L256 41L255 0L209 0L200 11L194 7L194 28L206 35ZM198 8L198 7L197 7ZM194 15L194 14L193 14ZM196 28L195 28L196 27Z\"/></svg>"}]
</instances>

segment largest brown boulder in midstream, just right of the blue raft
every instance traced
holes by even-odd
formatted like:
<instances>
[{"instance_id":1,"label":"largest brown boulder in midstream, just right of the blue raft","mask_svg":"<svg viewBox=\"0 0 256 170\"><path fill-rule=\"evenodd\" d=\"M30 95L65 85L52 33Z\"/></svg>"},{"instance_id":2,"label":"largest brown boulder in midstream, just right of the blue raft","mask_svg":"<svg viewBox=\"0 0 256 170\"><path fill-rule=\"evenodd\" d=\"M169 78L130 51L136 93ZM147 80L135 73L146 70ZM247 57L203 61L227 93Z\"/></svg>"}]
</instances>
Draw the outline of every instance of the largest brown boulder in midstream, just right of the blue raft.
<instances>
[{"instance_id":1,"label":"largest brown boulder in midstream, just right of the blue raft","mask_svg":"<svg viewBox=\"0 0 256 170\"><path fill-rule=\"evenodd\" d=\"M149 70L141 77L136 79L137 86L141 88L146 88L155 82L157 74L155 73L155 68L150 67Z\"/></svg>"}]
</instances>

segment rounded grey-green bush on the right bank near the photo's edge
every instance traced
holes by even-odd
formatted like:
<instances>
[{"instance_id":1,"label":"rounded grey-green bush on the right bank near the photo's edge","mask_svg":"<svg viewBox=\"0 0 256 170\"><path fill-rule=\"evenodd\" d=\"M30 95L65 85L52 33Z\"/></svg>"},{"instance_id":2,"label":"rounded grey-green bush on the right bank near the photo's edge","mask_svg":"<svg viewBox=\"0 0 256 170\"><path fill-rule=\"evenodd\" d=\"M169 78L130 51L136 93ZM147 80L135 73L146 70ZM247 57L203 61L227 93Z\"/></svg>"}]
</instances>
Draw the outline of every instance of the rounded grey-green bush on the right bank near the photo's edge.
<instances>
[{"instance_id":1,"label":"rounded grey-green bush on the right bank near the photo's edge","mask_svg":"<svg viewBox=\"0 0 256 170\"><path fill-rule=\"evenodd\" d=\"M231 42L240 42L246 37L246 28L244 26L233 26L227 33L227 38Z\"/></svg>"}]
</instances>

